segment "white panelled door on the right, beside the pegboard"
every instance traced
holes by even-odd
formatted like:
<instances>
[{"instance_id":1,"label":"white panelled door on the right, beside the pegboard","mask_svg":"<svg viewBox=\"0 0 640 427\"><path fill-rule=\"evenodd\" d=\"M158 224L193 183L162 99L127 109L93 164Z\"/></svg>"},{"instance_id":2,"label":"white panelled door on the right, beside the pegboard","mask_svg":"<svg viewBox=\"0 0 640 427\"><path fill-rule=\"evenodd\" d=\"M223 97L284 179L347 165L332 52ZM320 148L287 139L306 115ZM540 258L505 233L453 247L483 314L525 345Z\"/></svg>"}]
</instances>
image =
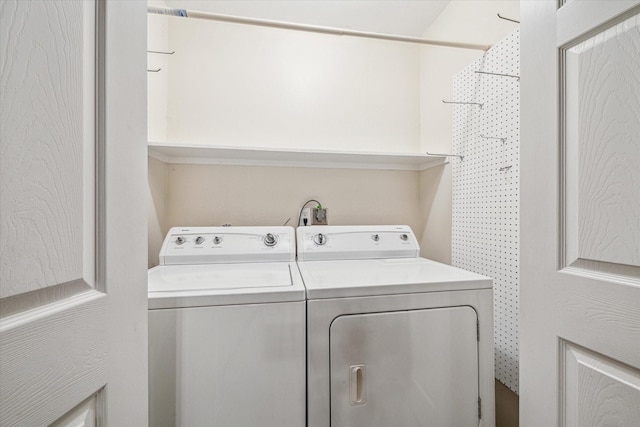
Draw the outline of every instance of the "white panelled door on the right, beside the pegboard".
<instances>
[{"instance_id":1,"label":"white panelled door on the right, beside the pegboard","mask_svg":"<svg viewBox=\"0 0 640 427\"><path fill-rule=\"evenodd\" d=\"M524 1L520 421L640 425L640 1Z\"/></svg>"}]
</instances>

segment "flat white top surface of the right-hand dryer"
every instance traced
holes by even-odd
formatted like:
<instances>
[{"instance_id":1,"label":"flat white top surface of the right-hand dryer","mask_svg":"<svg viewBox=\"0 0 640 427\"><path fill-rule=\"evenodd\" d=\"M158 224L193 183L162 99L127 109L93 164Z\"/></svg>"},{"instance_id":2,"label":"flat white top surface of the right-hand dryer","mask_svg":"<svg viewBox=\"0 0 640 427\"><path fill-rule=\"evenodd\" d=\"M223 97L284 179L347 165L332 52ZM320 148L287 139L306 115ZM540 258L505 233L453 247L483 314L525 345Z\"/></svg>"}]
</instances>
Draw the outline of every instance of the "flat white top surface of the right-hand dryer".
<instances>
[{"instance_id":1,"label":"flat white top surface of the right-hand dryer","mask_svg":"<svg viewBox=\"0 0 640 427\"><path fill-rule=\"evenodd\" d=\"M307 299L490 289L492 279L425 258L298 262Z\"/></svg>"}]
</instances>

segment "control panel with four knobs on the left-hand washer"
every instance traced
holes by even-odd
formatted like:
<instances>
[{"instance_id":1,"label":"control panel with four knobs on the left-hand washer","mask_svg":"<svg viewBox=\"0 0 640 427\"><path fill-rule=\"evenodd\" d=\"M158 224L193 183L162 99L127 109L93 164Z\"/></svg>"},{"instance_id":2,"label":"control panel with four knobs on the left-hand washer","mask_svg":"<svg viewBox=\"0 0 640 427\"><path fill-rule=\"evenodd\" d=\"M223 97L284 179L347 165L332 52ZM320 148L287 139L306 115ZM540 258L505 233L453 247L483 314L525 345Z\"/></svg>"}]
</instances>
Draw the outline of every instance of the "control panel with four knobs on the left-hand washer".
<instances>
[{"instance_id":1,"label":"control panel with four knobs on the left-hand washer","mask_svg":"<svg viewBox=\"0 0 640 427\"><path fill-rule=\"evenodd\" d=\"M160 265L295 261L293 227L173 227Z\"/></svg>"}]
</instances>

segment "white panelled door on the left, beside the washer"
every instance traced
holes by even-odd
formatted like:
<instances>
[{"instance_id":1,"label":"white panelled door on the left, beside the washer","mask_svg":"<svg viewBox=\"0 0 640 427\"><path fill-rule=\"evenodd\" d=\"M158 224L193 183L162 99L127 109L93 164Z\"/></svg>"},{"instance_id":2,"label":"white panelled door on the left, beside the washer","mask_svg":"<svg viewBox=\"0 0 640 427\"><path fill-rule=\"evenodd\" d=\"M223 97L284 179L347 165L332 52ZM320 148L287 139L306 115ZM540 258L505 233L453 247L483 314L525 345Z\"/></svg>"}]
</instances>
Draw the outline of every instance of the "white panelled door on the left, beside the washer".
<instances>
[{"instance_id":1,"label":"white panelled door on the left, beside the washer","mask_svg":"<svg viewBox=\"0 0 640 427\"><path fill-rule=\"evenodd\" d=\"M0 425L145 425L143 2L0 3Z\"/></svg>"}]
</instances>

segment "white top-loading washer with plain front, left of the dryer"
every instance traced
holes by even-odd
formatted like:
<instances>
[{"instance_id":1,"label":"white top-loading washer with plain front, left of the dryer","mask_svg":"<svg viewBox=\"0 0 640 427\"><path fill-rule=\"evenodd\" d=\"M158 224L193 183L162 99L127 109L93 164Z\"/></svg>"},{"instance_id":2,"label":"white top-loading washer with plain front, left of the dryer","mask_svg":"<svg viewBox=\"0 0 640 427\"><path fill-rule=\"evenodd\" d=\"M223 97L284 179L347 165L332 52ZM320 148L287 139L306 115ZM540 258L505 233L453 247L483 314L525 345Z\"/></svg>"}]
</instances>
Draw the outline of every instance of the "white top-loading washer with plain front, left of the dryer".
<instances>
[{"instance_id":1,"label":"white top-loading washer with plain front, left of the dryer","mask_svg":"<svg viewBox=\"0 0 640 427\"><path fill-rule=\"evenodd\" d=\"M149 270L150 425L305 424L292 227L177 227Z\"/></svg>"}]
</instances>

